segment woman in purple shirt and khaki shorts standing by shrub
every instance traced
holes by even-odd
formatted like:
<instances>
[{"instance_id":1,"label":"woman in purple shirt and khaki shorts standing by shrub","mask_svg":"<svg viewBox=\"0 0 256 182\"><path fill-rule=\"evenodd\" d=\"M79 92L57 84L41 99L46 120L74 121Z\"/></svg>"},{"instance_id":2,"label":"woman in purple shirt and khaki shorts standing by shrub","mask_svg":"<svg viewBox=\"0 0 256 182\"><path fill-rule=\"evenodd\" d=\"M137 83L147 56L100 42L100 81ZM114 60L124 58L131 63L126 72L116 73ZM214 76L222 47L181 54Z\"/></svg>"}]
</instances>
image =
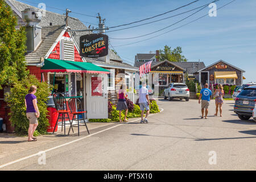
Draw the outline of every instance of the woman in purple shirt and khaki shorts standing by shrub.
<instances>
[{"instance_id":1,"label":"woman in purple shirt and khaki shorts standing by shrub","mask_svg":"<svg viewBox=\"0 0 256 182\"><path fill-rule=\"evenodd\" d=\"M33 134L38 126L38 118L40 116L38 110L38 104L36 100L36 86L32 85L28 94L25 96L25 105L27 108L26 115L28 120L30 121L30 127L28 128L28 142L36 141L36 138L33 137Z\"/></svg>"}]
</instances>

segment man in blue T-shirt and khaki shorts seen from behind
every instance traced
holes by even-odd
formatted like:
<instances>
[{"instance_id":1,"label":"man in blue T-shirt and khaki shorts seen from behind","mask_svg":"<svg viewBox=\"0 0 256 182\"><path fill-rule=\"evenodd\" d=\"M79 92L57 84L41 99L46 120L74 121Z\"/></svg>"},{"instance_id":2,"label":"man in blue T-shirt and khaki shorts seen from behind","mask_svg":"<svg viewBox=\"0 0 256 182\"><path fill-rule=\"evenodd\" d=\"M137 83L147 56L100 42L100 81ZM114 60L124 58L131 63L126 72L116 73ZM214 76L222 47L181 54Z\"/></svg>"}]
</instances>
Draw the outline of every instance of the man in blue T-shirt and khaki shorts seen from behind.
<instances>
[{"instance_id":1,"label":"man in blue T-shirt and khaki shorts seen from behind","mask_svg":"<svg viewBox=\"0 0 256 182\"><path fill-rule=\"evenodd\" d=\"M199 96L199 104L201 104L202 107L202 117L204 118L204 109L205 109L205 119L208 119L208 107L210 105L210 96L212 96L212 91L208 89L208 84L204 85L204 89L201 90L200 96ZM201 102L202 99L202 102Z\"/></svg>"}]
</instances>

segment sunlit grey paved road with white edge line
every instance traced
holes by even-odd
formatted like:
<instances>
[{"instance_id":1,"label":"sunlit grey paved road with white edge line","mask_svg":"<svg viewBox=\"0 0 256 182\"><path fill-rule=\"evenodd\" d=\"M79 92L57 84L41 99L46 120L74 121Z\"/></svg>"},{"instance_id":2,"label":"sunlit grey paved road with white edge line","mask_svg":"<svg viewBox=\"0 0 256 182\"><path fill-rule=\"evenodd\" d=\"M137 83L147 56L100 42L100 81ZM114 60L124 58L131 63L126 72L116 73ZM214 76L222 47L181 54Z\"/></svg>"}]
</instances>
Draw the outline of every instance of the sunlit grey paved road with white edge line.
<instances>
[{"instance_id":1,"label":"sunlit grey paved road with white edge line","mask_svg":"<svg viewBox=\"0 0 256 182\"><path fill-rule=\"evenodd\" d=\"M92 130L91 137L86 132L80 137L59 137L0 162L1 166L51 148L45 165L38 164L39 156L32 156L0 170L256 169L256 122L240 121L232 111L234 101L225 101L223 117L213 117L212 102L209 119L200 119L196 100L159 100L158 104L164 111L151 115L148 124L114 123ZM53 148L60 144L65 146Z\"/></svg>"}]
</instances>

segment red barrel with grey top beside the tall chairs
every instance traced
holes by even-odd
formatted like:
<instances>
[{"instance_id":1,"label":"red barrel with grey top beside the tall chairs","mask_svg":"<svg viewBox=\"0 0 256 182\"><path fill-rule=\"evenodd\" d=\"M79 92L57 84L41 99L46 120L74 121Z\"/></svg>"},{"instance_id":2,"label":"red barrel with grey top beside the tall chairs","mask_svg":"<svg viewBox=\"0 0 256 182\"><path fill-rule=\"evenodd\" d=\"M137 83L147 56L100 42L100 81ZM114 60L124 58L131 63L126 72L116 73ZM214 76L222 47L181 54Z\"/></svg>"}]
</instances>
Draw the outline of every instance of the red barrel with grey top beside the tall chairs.
<instances>
[{"instance_id":1,"label":"red barrel with grey top beside the tall chairs","mask_svg":"<svg viewBox=\"0 0 256 182\"><path fill-rule=\"evenodd\" d=\"M47 132L53 132L55 124L57 122L58 113L56 112L55 104L53 102L52 96L49 96L48 98L49 98L49 100L46 104L47 110L49 111L49 113L48 113L49 116L47 116L47 119L49 121L49 126L47 129ZM56 126L54 132L56 132L57 130L58 130L58 126Z\"/></svg>"}]
</instances>

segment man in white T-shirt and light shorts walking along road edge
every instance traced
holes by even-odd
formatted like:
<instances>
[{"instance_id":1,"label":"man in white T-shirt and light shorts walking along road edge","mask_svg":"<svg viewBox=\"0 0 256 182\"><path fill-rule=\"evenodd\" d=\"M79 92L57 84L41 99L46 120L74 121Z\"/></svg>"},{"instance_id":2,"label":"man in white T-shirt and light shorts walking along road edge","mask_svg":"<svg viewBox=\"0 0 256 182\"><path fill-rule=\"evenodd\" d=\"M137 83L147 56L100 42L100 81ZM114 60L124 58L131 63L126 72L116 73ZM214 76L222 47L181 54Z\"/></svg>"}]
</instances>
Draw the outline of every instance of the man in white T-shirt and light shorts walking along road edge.
<instances>
[{"instance_id":1,"label":"man in white T-shirt and light shorts walking along road edge","mask_svg":"<svg viewBox=\"0 0 256 182\"><path fill-rule=\"evenodd\" d=\"M150 101L148 97L148 89L146 82L142 82L142 88L139 89L139 107L141 108L141 123L148 123L147 117L150 113ZM146 109L146 117L143 119L144 110Z\"/></svg>"}]
</instances>

